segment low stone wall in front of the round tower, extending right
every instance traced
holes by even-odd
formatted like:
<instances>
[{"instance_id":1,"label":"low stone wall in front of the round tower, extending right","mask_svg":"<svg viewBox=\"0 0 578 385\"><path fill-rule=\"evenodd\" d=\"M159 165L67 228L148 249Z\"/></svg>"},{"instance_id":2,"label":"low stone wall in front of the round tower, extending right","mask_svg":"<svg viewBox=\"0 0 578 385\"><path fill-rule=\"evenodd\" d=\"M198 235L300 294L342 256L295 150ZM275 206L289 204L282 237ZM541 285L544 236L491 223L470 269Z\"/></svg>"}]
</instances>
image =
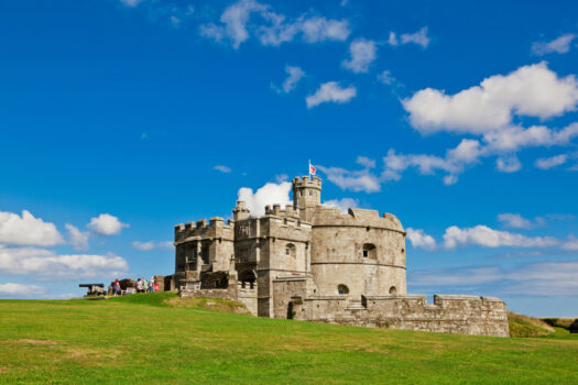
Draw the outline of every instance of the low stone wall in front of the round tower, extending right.
<instances>
[{"instance_id":1,"label":"low stone wall in front of the round tower, extending right","mask_svg":"<svg viewBox=\"0 0 578 385\"><path fill-rule=\"evenodd\" d=\"M361 327L509 337L505 304L491 297L422 295L305 298L295 319Z\"/></svg>"}]
</instances>

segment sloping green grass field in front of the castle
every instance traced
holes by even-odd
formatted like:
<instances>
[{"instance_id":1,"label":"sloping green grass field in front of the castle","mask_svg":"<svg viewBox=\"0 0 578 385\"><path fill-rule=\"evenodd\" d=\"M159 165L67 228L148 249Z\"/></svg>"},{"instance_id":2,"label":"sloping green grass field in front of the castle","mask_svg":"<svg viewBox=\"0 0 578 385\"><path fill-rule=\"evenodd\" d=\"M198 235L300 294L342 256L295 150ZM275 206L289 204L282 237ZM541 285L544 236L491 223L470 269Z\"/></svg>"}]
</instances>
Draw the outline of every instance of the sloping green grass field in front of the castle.
<instances>
[{"instance_id":1,"label":"sloping green grass field in front of the castle","mask_svg":"<svg viewBox=\"0 0 578 385\"><path fill-rule=\"evenodd\" d=\"M578 334L559 328L503 339L230 310L171 293L0 300L0 383L578 384Z\"/></svg>"}]
</instances>

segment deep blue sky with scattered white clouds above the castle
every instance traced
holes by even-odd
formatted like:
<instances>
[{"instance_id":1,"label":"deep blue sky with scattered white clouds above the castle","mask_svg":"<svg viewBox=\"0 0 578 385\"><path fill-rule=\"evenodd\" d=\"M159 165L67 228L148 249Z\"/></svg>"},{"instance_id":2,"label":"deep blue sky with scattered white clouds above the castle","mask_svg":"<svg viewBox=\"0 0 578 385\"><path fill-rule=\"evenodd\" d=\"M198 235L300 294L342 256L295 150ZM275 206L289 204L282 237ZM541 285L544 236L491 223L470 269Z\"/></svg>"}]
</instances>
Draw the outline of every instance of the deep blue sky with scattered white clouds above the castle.
<instances>
[{"instance_id":1,"label":"deep blue sky with scattered white clouds above the castle","mask_svg":"<svg viewBox=\"0 0 578 385\"><path fill-rule=\"evenodd\" d=\"M1 2L0 297L171 274L174 224L310 158L401 219L411 293L578 316L577 8Z\"/></svg>"}]
</instances>

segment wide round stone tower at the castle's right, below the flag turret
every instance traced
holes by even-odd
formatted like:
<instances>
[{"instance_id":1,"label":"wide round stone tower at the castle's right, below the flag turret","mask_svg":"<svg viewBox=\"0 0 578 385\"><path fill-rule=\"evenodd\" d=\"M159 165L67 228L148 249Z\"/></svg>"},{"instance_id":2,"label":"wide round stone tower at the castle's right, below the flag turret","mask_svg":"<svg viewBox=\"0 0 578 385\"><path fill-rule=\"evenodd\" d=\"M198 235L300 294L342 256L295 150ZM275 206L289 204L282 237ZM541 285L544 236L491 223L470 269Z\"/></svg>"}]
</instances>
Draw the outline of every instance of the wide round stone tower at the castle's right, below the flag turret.
<instances>
[{"instance_id":1,"label":"wide round stone tower at the castle's right, below the flag turret","mask_svg":"<svg viewBox=\"0 0 578 385\"><path fill-rule=\"evenodd\" d=\"M400 220L378 211L320 207L312 230L310 272L318 296L406 294L405 232Z\"/></svg>"}]
</instances>

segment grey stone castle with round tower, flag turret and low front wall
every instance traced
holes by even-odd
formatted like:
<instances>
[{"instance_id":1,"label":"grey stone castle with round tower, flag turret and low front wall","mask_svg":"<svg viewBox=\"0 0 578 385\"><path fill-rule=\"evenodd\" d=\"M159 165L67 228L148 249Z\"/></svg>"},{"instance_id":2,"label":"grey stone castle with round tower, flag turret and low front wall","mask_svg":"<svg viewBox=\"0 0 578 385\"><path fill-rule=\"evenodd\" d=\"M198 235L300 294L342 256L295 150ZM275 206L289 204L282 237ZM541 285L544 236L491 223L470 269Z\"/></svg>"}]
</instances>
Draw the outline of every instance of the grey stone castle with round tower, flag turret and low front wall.
<instances>
[{"instance_id":1,"label":"grey stone castle with round tower, flag turret and low front wall","mask_svg":"<svg viewBox=\"0 0 578 385\"><path fill-rule=\"evenodd\" d=\"M293 179L293 206L252 217L243 201L233 219L175 227L175 273L165 287L181 296L231 298L260 317L291 318L508 337L498 298L408 295L405 232L378 211L321 206L321 179Z\"/></svg>"}]
</instances>

